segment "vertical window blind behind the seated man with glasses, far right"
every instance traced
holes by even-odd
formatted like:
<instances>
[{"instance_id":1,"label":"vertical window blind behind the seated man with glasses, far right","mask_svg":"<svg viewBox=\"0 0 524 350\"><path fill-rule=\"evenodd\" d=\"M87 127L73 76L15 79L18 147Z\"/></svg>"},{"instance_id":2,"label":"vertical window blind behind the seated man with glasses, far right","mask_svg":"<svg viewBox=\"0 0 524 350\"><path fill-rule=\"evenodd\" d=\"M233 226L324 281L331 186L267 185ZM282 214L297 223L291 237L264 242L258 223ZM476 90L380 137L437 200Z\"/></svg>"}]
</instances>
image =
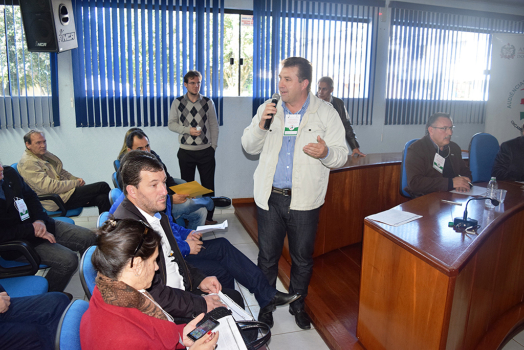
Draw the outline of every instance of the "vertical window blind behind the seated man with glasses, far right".
<instances>
[{"instance_id":1,"label":"vertical window blind behind the seated man with glasses, far right","mask_svg":"<svg viewBox=\"0 0 524 350\"><path fill-rule=\"evenodd\" d=\"M492 33L524 32L524 17L390 2L386 125L425 124L434 112L483 123Z\"/></svg>"}]
</instances>

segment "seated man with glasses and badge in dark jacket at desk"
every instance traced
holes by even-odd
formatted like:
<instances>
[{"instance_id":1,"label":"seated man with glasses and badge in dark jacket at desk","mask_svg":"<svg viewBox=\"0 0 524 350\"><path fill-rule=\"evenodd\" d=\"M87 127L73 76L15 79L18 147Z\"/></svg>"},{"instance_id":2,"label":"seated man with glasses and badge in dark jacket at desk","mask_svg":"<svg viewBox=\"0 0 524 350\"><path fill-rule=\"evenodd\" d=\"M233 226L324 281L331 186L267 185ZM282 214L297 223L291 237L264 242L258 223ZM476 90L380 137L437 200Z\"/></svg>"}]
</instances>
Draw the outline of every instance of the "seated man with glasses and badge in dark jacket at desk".
<instances>
[{"instance_id":1,"label":"seated man with glasses and badge in dark jacket at desk","mask_svg":"<svg viewBox=\"0 0 524 350\"><path fill-rule=\"evenodd\" d=\"M426 123L425 136L409 146L405 189L411 197L452 189L470 190L471 171L462 160L460 146L451 141L454 128L449 114L435 113Z\"/></svg>"}]
</instances>

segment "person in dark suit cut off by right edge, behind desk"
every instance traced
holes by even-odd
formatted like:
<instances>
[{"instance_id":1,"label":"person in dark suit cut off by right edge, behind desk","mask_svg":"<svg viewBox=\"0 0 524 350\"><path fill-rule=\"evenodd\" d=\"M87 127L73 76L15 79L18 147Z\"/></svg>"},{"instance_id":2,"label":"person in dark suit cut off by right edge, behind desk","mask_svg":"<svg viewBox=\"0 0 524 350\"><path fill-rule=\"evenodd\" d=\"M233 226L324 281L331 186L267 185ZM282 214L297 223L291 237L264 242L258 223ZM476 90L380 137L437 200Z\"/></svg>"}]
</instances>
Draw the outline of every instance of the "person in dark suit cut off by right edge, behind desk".
<instances>
[{"instance_id":1,"label":"person in dark suit cut off by right edge, behind desk","mask_svg":"<svg viewBox=\"0 0 524 350\"><path fill-rule=\"evenodd\" d=\"M524 124L518 138L500 145L492 176L497 180L524 181Z\"/></svg>"}]
</instances>

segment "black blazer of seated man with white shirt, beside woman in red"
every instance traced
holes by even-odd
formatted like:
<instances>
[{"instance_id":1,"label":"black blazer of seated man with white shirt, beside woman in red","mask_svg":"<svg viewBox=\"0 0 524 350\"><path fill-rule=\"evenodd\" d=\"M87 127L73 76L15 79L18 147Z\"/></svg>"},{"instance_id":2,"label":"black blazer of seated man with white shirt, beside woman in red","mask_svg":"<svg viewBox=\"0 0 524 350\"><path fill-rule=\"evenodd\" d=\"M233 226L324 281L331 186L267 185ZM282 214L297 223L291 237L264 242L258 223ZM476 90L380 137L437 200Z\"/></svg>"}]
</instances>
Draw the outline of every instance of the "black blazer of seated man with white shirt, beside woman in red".
<instances>
[{"instance_id":1,"label":"black blazer of seated man with white shirt, beside woman in red","mask_svg":"<svg viewBox=\"0 0 524 350\"><path fill-rule=\"evenodd\" d=\"M160 224L162 225L169 244L171 245L173 257L178 263L179 272L184 280L185 290L166 286L166 257L164 256L161 247L159 247L157 258L159 269L155 273L151 287L147 291L162 307L162 309L166 310L172 317L194 318L200 313L208 311L205 299L200 295L191 293L191 291L196 290L206 276L202 274L199 269L185 262L182 253L180 253L177 241L174 239L171 231L169 219L166 214L162 212L160 213L160 216ZM124 198L121 205L118 206L114 213L114 217L116 219L136 219L147 222L146 218L144 218L135 205L127 198Z\"/></svg>"}]
</instances>

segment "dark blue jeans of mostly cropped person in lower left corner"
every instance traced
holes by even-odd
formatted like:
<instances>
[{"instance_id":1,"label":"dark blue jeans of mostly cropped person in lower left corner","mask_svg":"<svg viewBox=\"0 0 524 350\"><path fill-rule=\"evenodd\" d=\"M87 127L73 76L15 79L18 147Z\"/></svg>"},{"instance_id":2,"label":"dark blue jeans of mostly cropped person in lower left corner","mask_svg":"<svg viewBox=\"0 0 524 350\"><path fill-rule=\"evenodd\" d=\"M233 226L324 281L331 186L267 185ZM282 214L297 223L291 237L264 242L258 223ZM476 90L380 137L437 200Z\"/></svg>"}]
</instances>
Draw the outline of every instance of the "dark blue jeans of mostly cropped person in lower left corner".
<instances>
[{"instance_id":1,"label":"dark blue jeans of mostly cropped person in lower left corner","mask_svg":"<svg viewBox=\"0 0 524 350\"><path fill-rule=\"evenodd\" d=\"M60 317L69 304L63 293L12 298L0 313L0 347L4 350L52 350Z\"/></svg>"}]
</instances>

